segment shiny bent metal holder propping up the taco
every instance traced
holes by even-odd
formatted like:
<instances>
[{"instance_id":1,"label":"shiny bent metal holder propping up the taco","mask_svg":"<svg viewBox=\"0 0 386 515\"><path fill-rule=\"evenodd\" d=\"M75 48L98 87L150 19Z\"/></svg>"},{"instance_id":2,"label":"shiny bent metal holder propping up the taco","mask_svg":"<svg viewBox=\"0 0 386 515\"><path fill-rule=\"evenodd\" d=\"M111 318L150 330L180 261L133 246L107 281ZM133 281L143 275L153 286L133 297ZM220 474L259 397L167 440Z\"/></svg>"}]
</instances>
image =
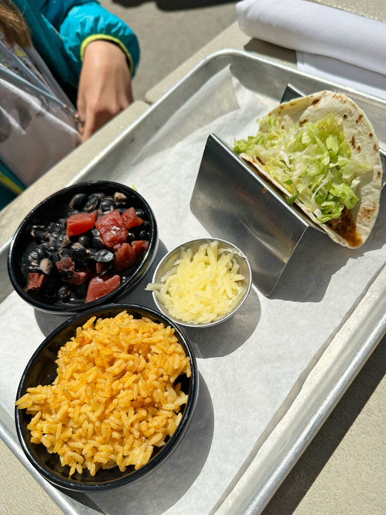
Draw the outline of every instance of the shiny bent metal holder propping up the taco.
<instances>
[{"instance_id":1,"label":"shiny bent metal holder propping up the taco","mask_svg":"<svg viewBox=\"0 0 386 515\"><path fill-rule=\"evenodd\" d=\"M280 104L304 96L292 84ZM386 153L380 149L383 185ZM210 134L202 156L190 209L212 235L234 242L247 255L261 293L269 296L293 251L309 229L324 231L282 192Z\"/></svg>"}]
</instances>

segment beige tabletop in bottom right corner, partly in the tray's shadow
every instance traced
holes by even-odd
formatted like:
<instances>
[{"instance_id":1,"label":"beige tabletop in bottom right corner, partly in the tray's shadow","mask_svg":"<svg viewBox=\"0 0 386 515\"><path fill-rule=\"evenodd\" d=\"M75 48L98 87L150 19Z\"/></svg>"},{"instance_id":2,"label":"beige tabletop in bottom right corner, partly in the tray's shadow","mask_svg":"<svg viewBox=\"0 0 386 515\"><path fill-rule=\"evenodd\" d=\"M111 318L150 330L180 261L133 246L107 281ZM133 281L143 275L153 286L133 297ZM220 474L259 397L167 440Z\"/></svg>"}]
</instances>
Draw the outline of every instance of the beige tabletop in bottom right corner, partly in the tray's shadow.
<instances>
[{"instance_id":1,"label":"beige tabletop in bottom right corner, partly in the tray's shadow","mask_svg":"<svg viewBox=\"0 0 386 515\"><path fill-rule=\"evenodd\" d=\"M386 513L386 337L262 515Z\"/></svg>"}]
</instances>

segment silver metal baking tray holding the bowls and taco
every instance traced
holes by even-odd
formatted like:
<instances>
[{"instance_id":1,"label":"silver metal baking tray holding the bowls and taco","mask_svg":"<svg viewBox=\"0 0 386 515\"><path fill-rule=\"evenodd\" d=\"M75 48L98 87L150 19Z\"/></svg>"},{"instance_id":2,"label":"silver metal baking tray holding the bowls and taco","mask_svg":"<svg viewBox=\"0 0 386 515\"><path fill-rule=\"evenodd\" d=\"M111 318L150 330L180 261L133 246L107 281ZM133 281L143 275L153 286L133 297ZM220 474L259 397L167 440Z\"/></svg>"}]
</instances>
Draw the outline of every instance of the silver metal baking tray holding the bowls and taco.
<instances>
[{"instance_id":1,"label":"silver metal baking tray holding the bowls and taco","mask_svg":"<svg viewBox=\"0 0 386 515\"><path fill-rule=\"evenodd\" d=\"M386 114L385 101L301 73L293 67L280 65L269 59L261 59L247 52L222 50L208 56L193 68L134 124L125 129L110 146L102 150L96 159L79 170L72 182L106 178L106 170L109 170L112 179L119 180L119 176L127 169L128 163L135 159L149 139L159 133L168 119L208 79L226 66L230 66L233 76L245 87L277 103L288 83L305 94L323 89L348 94L369 116L380 144L384 147L386 142L386 127L383 123ZM146 192L144 194L146 196ZM381 203L384 203L384 200L382 198ZM0 293L1 311L4 310L4 303L11 292L5 266L8 248L9 242L0 249L0 279L3 285ZM253 452L243 461L231 483L218 499L214 500L215 505L211 506L207 513L256 514L264 509L386 332L385 262L386 255L380 266L373 270L371 281L344 314L339 326L330 334L293 385L285 402L276 411L265 431L256 435ZM43 318L40 319L41 327L44 324ZM60 320L50 319L49 322L59 324ZM220 357L217 358L217 363L219 362ZM4 392L0 393L3 398ZM210 389L202 392L203 395L207 393L210 394ZM204 417L206 413L202 415ZM16 441L12 417L1 404L0 418L0 436L65 513L72 515L114 513L115 515L124 512L122 504L116 509L114 504L111 504L107 509L98 502L96 497L90 498L83 494L69 496L51 487L34 469L31 469ZM165 472L167 473L167 469ZM170 474L173 472L172 468L169 472ZM175 477L175 479L180 478ZM119 492L118 490L114 493L112 503L118 502ZM122 502L128 509L130 500L124 499ZM162 505L162 509L159 507L158 512L161 513L162 510L169 512L170 507L171 505ZM125 511L127 512L130 511ZM190 513L189 510L185 512Z\"/></svg>"}]
</instances>

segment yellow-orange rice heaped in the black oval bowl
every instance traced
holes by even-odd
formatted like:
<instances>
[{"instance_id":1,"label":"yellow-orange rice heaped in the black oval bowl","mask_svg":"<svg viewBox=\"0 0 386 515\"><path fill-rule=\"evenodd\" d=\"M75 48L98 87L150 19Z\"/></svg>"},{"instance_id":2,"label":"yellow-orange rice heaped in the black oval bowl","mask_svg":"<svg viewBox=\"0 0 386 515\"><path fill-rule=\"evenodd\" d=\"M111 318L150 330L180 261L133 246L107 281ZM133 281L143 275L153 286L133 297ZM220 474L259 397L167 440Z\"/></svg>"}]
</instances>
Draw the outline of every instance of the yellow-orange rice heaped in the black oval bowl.
<instances>
[{"instance_id":1,"label":"yellow-orange rice heaped in the black oval bowl","mask_svg":"<svg viewBox=\"0 0 386 515\"><path fill-rule=\"evenodd\" d=\"M173 383L191 371L169 326L126 311L92 317L56 363L55 381L28 388L16 405L33 415L31 442L57 453L69 476L85 468L91 475L114 466L138 469L176 431L187 395Z\"/></svg>"}]
</instances>

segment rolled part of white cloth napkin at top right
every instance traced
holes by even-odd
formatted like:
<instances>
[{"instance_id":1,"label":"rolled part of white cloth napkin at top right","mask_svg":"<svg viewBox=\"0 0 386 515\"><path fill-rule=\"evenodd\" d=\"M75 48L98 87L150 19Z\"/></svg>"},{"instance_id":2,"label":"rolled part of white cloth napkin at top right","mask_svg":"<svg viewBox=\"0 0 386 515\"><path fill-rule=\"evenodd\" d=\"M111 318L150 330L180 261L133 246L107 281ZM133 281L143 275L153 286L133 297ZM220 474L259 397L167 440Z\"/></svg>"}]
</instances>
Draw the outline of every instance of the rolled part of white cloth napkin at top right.
<instances>
[{"instance_id":1,"label":"rolled part of white cloth napkin at top right","mask_svg":"<svg viewBox=\"0 0 386 515\"><path fill-rule=\"evenodd\" d=\"M243 0L236 12L252 38L386 74L386 23L308 0Z\"/></svg>"}]
</instances>

